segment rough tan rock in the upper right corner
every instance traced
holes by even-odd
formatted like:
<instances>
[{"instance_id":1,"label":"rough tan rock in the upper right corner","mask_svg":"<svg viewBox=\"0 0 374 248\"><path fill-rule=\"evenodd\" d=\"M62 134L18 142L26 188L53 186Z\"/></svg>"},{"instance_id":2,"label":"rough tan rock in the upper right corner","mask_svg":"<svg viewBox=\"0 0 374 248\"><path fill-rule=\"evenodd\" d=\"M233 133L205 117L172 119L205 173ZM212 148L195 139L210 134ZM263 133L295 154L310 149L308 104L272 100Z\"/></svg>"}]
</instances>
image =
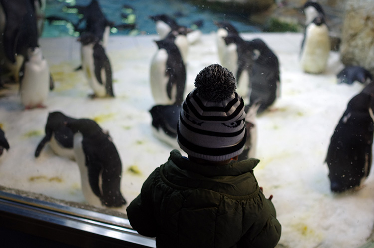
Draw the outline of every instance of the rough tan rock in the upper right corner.
<instances>
[{"instance_id":1,"label":"rough tan rock in the upper right corner","mask_svg":"<svg viewBox=\"0 0 374 248\"><path fill-rule=\"evenodd\" d=\"M345 66L362 66L374 75L374 0L347 0L340 56Z\"/></svg>"}]
</instances>

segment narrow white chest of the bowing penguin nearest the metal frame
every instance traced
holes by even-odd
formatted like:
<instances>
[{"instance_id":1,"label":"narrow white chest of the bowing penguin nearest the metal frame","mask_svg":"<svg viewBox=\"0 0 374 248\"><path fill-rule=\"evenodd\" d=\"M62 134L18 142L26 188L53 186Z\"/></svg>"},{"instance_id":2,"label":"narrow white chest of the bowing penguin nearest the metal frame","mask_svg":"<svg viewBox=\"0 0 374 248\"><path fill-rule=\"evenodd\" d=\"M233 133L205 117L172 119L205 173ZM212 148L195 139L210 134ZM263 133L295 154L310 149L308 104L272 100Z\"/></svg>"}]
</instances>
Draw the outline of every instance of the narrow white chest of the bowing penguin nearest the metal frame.
<instances>
[{"instance_id":1,"label":"narrow white chest of the bowing penguin nearest the metal frame","mask_svg":"<svg viewBox=\"0 0 374 248\"><path fill-rule=\"evenodd\" d=\"M94 206L101 206L100 199L92 191L89 177L88 177L88 167L86 165L86 156L84 154L83 146L83 135L81 133L74 134L74 154L75 160L79 167L80 177L81 177L81 187L84 198L88 203ZM101 187L100 187L101 188Z\"/></svg>"}]
</instances>

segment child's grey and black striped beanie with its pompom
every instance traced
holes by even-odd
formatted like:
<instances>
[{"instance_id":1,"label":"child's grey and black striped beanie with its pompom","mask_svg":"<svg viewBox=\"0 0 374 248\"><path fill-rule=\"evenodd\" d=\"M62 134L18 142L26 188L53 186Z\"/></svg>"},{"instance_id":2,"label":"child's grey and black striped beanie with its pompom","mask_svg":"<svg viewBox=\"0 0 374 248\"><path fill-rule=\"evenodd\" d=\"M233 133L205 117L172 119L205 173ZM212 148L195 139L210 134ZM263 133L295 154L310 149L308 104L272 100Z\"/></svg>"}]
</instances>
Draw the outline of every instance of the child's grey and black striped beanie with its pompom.
<instances>
[{"instance_id":1,"label":"child's grey and black striped beanie with its pompom","mask_svg":"<svg viewBox=\"0 0 374 248\"><path fill-rule=\"evenodd\" d=\"M242 153L246 139L244 101L233 74L213 64L195 79L182 104L177 141L189 156L224 161Z\"/></svg>"}]
</instances>

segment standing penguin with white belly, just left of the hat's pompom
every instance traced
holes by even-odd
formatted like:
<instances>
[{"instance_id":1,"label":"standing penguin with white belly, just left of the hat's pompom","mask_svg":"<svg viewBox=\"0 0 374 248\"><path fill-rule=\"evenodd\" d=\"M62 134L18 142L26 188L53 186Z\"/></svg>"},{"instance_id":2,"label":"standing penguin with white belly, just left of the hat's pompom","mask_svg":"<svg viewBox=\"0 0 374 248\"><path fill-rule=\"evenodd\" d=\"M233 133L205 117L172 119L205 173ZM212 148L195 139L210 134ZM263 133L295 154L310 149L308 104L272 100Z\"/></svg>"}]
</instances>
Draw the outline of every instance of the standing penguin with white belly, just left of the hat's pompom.
<instances>
[{"instance_id":1,"label":"standing penguin with white belly, just left of the hat's pompom","mask_svg":"<svg viewBox=\"0 0 374 248\"><path fill-rule=\"evenodd\" d=\"M150 83L157 105L181 105L184 100L186 67L174 41L173 31L165 39L155 41L159 49L151 61Z\"/></svg>"}]
</instances>

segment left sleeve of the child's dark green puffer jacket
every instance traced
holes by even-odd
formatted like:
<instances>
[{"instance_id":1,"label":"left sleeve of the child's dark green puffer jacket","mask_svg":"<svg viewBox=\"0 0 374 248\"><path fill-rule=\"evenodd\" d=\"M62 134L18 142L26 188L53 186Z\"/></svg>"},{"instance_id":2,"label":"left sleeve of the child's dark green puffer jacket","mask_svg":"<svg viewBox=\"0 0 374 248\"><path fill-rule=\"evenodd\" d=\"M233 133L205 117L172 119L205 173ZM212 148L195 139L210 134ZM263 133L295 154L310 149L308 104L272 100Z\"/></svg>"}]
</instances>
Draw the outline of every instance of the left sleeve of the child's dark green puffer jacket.
<instances>
[{"instance_id":1,"label":"left sleeve of the child's dark green puffer jacket","mask_svg":"<svg viewBox=\"0 0 374 248\"><path fill-rule=\"evenodd\" d=\"M153 212L152 184L157 168L143 183L140 194L127 207L127 218L131 226L139 234L149 237L156 237L156 221Z\"/></svg>"}]
</instances>

